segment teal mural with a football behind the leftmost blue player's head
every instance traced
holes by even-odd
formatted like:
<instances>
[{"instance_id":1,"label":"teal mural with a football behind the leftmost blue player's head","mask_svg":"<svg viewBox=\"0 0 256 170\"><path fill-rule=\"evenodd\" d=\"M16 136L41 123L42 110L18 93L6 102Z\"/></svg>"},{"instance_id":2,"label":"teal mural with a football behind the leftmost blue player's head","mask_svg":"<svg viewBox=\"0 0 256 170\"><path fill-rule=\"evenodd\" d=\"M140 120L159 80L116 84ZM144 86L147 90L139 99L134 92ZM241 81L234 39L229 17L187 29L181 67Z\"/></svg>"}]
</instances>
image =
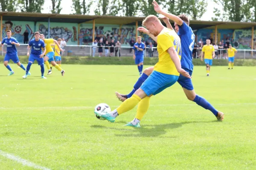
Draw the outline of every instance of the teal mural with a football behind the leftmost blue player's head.
<instances>
[{"instance_id":1,"label":"teal mural with a football behind the leftmost blue player's head","mask_svg":"<svg viewBox=\"0 0 256 170\"><path fill-rule=\"evenodd\" d=\"M12 31L12 37L15 37L18 42L23 43L24 36L23 33L27 30L29 33L29 40L33 38L34 32L30 26L33 26L33 22L23 22L23 21L3 21L3 31L2 37L6 37L6 31Z\"/></svg>"}]
</instances>

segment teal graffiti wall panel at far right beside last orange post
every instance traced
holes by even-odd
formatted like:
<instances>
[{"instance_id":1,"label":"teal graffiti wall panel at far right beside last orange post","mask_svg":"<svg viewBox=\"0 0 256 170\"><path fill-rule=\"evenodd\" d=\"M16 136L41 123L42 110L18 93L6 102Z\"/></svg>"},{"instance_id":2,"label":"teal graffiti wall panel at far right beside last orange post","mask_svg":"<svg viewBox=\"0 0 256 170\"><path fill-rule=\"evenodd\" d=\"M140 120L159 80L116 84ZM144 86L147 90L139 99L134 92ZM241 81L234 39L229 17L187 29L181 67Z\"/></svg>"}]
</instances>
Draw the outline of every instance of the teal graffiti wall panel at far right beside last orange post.
<instances>
[{"instance_id":1,"label":"teal graffiti wall panel at far right beside last orange post","mask_svg":"<svg viewBox=\"0 0 256 170\"><path fill-rule=\"evenodd\" d=\"M256 30L254 31L254 39ZM251 49L252 31L251 30L235 30L234 31L234 47L239 49ZM255 41L255 40L254 40ZM254 43L256 45L256 42Z\"/></svg>"}]
</instances>

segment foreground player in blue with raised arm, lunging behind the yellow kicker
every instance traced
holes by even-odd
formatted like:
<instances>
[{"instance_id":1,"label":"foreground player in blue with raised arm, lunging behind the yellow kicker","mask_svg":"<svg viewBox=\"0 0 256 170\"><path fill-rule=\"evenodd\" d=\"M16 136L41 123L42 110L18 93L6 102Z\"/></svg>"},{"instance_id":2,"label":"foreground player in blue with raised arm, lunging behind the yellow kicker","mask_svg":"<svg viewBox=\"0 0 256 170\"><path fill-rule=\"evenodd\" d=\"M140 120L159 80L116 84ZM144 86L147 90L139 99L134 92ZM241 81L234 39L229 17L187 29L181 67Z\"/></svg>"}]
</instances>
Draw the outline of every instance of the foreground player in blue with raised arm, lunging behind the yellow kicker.
<instances>
[{"instance_id":1,"label":"foreground player in blue with raised arm, lunging behind the yellow kicker","mask_svg":"<svg viewBox=\"0 0 256 170\"><path fill-rule=\"evenodd\" d=\"M186 17L186 15L173 15L167 12L162 11L160 6L157 4L156 1L153 1L154 9L159 14L163 14L164 16L168 17L171 20L175 21L175 31L180 36L181 41L181 67L189 72L189 75L192 76L193 71L193 64L192 64L192 50L194 48L194 42L195 42L195 34L192 31L192 28L189 27L189 19ZM173 29L171 24L169 23L169 20L164 20L167 24L166 26L170 29ZM148 34L151 38L153 38L154 41L157 41L157 37L154 37L154 35L149 34L148 30L146 30L144 27L138 28L139 31ZM135 91L137 91L138 88L142 85L142 83L145 81L145 79L148 78L148 76L152 73L153 67L149 67L143 71L142 76L137 80L137 82L134 85L134 89L131 91L128 95L119 94L116 92L116 96L120 101L125 101L127 98L130 98L132 94L134 94ZM200 105L201 107L211 111L217 118L218 121L222 121L224 119L224 113L217 111L206 99L204 99L201 96L198 96L195 94L195 90L192 85L192 81L189 78L183 77L180 75L177 82L181 85L183 88L184 93L186 94L186 97L195 102L196 104ZM147 110L145 110L144 114ZM143 117L143 115L140 115L139 117ZM140 120L137 120L135 117L134 121L131 123L137 123L140 122Z\"/></svg>"}]
</instances>

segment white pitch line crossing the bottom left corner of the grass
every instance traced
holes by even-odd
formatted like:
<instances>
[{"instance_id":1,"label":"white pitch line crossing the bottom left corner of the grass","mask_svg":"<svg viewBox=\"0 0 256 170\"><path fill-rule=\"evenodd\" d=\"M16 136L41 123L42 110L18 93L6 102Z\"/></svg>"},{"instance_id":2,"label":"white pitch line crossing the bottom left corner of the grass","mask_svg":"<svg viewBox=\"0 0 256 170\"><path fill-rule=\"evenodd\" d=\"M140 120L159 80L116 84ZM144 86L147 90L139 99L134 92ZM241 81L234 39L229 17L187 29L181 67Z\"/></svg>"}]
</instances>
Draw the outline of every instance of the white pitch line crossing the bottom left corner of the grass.
<instances>
[{"instance_id":1,"label":"white pitch line crossing the bottom left corner of the grass","mask_svg":"<svg viewBox=\"0 0 256 170\"><path fill-rule=\"evenodd\" d=\"M37 165L37 164L35 164L33 162L30 162L30 161L28 161L26 159L22 159L22 158L20 158L18 156L14 156L14 155L12 155L10 153L3 152L2 150L0 150L0 155L6 157L8 159L12 159L14 161L17 161L18 163L23 164L23 165L28 166L28 167L33 167L33 168L39 169L39 170L50 170L47 167L41 167L41 166L39 166L39 165Z\"/></svg>"}]
</instances>

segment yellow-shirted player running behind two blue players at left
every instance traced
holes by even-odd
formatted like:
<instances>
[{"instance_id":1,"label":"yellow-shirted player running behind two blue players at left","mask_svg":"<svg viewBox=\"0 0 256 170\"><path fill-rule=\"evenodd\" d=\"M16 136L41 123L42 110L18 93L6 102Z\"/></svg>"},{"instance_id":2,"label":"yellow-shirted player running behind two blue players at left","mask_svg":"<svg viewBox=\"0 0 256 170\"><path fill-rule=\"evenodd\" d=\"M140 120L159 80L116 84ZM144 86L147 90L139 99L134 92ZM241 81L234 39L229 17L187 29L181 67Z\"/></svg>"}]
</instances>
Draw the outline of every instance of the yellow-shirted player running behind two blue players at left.
<instances>
[{"instance_id":1,"label":"yellow-shirted player running behind two blue players at left","mask_svg":"<svg viewBox=\"0 0 256 170\"><path fill-rule=\"evenodd\" d=\"M51 43L54 42L54 43L58 46L58 48L60 49L60 51L63 51L63 50L61 49L60 45L58 44L58 42L57 42L56 40L54 40L54 39L52 39L52 38L46 39L46 38L44 37L44 34L41 34L41 35L40 35L40 38L41 38L42 40L44 40L44 43L45 43L46 55L45 55L45 57L44 57L44 62L46 63L47 68L49 69L48 74L52 74L52 73L51 73L52 71L50 70L50 65L49 65L49 62L50 62L55 68L58 69L58 71L61 71L61 75L64 76L65 71L64 71L58 64L56 64L56 62L54 61L54 57L53 57L53 56L54 56L54 51L53 51L53 49L52 49Z\"/></svg>"}]
</instances>

